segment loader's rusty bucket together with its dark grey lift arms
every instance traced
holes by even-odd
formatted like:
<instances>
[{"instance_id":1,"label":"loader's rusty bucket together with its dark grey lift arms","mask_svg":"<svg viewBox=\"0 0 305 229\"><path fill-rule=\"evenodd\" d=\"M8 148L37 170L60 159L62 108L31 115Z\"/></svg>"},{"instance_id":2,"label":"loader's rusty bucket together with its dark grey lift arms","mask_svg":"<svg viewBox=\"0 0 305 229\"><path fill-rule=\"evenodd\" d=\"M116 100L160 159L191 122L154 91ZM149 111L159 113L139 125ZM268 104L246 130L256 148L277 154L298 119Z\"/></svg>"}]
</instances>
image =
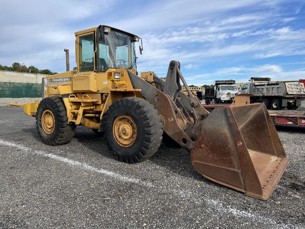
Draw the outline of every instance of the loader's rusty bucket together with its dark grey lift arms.
<instances>
[{"instance_id":1,"label":"loader's rusty bucket together with its dark grey lift arms","mask_svg":"<svg viewBox=\"0 0 305 229\"><path fill-rule=\"evenodd\" d=\"M130 71L128 76L158 110L163 131L191 151L200 174L251 197L270 197L288 160L264 104L250 104L250 94L239 94L230 106L210 113L188 88L175 60L166 81L153 75L148 82ZM180 81L188 95L181 92Z\"/></svg>"}]
</instances>

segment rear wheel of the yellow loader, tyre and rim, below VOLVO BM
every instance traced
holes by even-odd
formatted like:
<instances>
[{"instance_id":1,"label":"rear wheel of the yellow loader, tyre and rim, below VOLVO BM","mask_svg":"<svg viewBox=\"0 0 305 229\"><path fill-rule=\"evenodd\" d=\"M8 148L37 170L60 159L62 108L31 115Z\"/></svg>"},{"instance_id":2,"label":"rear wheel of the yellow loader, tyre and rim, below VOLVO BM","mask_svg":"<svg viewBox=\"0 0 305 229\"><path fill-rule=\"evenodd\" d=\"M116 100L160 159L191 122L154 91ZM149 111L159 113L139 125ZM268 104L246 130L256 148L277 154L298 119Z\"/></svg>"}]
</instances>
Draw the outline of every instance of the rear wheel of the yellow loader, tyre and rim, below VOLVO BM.
<instances>
[{"instance_id":1,"label":"rear wheel of the yellow loader, tyre and rim, below VOLVO BM","mask_svg":"<svg viewBox=\"0 0 305 229\"><path fill-rule=\"evenodd\" d=\"M61 97L52 96L41 100L36 112L36 125L45 144L54 146L69 143L76 125L67 122L67 111Z\"/></svg>"}]
</instances>

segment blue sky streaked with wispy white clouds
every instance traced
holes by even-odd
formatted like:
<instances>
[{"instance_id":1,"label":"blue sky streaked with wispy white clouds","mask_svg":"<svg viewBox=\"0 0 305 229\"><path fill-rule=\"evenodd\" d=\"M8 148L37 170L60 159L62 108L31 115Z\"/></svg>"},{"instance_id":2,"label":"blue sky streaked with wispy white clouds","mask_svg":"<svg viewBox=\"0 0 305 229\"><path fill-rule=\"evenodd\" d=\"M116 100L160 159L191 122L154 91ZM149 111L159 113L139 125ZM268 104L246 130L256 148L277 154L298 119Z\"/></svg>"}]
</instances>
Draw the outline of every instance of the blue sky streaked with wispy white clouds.
<instances>
[{"instance_id":1,"label":"blue sky streaked with wispy white clouds","mask_svg":"<svg viewBox=\"0 0 305 229\"><path fill-rule=\"evenodd\" d=\"M0 0L0 64L65 71L75 31L105 24L143 39L138 71L164 77L181 63L188 84L250 77L305 78L305 2Z\"/></svg>"}]
</instances>

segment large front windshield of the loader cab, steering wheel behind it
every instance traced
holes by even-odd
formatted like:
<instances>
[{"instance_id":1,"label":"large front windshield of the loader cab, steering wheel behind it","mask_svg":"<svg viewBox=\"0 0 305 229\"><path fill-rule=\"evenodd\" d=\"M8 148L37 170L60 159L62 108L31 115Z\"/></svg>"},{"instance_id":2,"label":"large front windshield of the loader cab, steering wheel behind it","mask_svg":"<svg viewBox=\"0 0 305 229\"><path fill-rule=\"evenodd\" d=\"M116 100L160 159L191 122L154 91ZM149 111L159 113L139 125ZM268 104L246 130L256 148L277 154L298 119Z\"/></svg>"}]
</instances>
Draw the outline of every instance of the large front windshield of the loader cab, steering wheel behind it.
<instances>
[{"instance_id":1,"label":"large front windshield of the loader cab, steering wheel behind it","mask_svg":"<svg viewBox=\"0 0 305 229\"><path fill-rule=\"evenodd\" d=\"M99 41L99 71L109 67L136 69L133 37L117 31L105 33L104 37Z\"/></svg>"}]
</instances>

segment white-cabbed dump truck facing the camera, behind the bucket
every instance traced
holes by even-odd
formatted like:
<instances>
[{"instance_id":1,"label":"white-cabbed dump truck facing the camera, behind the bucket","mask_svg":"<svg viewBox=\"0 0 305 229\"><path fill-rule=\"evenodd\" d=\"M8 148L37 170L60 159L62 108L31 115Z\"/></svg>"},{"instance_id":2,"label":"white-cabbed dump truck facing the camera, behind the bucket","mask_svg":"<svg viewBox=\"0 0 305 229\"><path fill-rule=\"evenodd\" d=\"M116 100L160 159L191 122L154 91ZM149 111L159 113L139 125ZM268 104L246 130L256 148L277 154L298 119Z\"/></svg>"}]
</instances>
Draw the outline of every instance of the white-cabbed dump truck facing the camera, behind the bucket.
<instances>
[{"instance_id":1,"label":"white-cabbed dump truck facing the camera, behind the bucket","mask_svg":"<svg viewBox=\"0 0 305 229\"><path fill-rule=\"evenodd\" d=\"M206 104L230 104L240 92L234 85L235 80L216 80L214 87L205 88Z\"/></svg>"}]
</instances>

